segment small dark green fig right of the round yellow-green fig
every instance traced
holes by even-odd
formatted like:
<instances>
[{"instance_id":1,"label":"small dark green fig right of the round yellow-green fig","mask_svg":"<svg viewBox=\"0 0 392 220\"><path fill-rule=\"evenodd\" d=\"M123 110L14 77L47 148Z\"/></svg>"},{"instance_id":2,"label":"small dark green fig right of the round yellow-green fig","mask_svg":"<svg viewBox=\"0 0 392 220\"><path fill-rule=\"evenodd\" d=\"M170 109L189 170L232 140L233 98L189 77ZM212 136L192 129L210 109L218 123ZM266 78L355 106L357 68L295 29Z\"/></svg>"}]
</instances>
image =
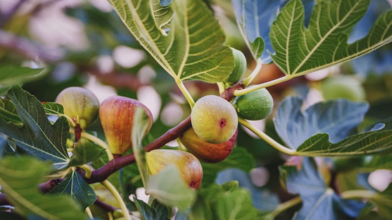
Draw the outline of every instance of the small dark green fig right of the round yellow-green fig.
<instances>
[{"instance_id":1,"label":"small dark green fig right of the round yellow-green fig","mask_svg":"<svg viewBox=\"0 0 392 220\"><path fill-rule=\"evenodd\" d=\"M266 88L239 96L234 100L238 116L248 120L261 120L268 117L274 108L274 99Z\"/></svg>"}]
</instances>

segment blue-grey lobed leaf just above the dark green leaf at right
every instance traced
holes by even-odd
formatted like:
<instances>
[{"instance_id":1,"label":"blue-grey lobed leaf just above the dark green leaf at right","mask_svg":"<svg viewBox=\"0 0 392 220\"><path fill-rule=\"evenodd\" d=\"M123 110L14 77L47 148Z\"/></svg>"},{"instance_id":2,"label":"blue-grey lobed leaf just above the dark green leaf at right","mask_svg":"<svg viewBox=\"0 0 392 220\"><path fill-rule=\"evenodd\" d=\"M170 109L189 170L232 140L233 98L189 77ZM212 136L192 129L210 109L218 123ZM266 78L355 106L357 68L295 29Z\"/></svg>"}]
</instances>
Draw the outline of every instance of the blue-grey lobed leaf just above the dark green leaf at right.
<instances>
[{"instance_id":1,"label":"blue-grey lobed leaf just above the dark green leaf at right","mask_svg":"<svg viewBox=\"0 0 392 220\"><path fill-rule=\"evenodd\" d=\"M302 111L300 97L287 97L278 107L274 124L281 139L292 149L311 136L328 133L332 142L348 136L363 120L369 105L345 99L320 102Z\"/></svg>"}]
</instances>

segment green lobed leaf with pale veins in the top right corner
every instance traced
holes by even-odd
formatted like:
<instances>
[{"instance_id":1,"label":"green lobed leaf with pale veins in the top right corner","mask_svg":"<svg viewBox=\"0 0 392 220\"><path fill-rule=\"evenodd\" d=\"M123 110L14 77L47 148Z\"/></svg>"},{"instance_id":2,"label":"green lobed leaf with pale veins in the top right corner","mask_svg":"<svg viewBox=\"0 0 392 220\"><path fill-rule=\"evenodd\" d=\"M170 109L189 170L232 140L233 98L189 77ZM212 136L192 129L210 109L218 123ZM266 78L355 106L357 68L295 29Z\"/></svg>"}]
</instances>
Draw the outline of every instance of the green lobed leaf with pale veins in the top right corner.
<instances>
[{"instance_id":1,"label":"green lobed leaf with pale veins in the top right corner","mask_svg":"<svg viewBox=\"0 0 392 220\"><path fill-rule=\"evenodd\" d=\"M291 0L270 30L272 59L286 75L304 75L352 60L392 40L392 10L382 14L361 40L348 44L348 33L365 15L370 0L320 0L304 26L301 0Z\"/></svg>"}]
</instances>

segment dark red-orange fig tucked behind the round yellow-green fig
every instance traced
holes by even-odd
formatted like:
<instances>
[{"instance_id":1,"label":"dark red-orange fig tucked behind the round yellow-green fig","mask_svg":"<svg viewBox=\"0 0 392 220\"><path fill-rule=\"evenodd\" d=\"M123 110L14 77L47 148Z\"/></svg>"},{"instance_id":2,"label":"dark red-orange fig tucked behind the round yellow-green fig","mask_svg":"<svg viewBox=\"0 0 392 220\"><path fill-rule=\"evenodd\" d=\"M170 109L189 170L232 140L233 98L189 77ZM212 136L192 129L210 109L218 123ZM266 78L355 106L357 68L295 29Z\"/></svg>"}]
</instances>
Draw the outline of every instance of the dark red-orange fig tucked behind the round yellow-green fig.
<instances>
[{"instance_id":1,"label":"dark red-orange fig tucked behind the round yellow-green fig","mask_svg":"<svg viewBox=\"0 0 392 220\"><path fill-rule=\"evenodd\" d=\"M230 155L234 148L234 144L237 139L238 129L229 141L222 142L220 144L210 144L200 139L200 137L194 132L193 128L190 128L180 136L181 143L195 155L199 160L208 163L220 162Z\"/></svg>"}]
</instances>

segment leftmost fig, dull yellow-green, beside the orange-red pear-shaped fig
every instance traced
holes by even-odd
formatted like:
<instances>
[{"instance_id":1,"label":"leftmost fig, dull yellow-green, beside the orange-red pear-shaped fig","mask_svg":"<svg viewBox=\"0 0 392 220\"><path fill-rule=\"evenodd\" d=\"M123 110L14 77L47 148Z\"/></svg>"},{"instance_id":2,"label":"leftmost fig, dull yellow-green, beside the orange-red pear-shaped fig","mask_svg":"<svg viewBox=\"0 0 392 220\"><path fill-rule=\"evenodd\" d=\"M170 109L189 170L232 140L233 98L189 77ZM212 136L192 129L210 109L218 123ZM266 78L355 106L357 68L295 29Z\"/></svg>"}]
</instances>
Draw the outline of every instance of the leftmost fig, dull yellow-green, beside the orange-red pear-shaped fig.
<instances>
[{"instance_id":1,"label":"leftmost fig, dull yellow-green, beside the orange-red pear-shaped fig","mask_svg":"<svg viewBox=\"0 0 392 220\"><path fill-rule=\"evenodd\" d=\"M98 117L99 101L87 88L68 87L58 94L56 103L62 105L64 114L71 117L82 129Z\"/></svg>"}]
</instances>

